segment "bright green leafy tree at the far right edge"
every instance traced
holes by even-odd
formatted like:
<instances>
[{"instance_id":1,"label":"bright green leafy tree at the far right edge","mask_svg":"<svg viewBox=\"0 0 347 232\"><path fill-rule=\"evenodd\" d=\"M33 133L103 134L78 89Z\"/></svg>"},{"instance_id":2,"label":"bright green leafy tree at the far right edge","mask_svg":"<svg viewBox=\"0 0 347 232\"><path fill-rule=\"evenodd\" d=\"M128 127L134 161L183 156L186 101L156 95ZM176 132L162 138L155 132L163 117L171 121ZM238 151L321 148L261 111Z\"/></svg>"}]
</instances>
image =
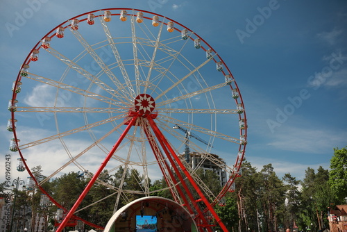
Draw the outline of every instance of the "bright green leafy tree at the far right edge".
<instances>
[{"instance_id":1,"label":"bright green leafy tree at the far right edge","mask_svg":"<svg viewBox=\"0 0 347 232\"><path fill-rule=\"evenodd\" d=\"M330 160L329 184L337 196L337 204L346 204L347 197L347 147L334 149Z\"/></svg>"}]
</instances>

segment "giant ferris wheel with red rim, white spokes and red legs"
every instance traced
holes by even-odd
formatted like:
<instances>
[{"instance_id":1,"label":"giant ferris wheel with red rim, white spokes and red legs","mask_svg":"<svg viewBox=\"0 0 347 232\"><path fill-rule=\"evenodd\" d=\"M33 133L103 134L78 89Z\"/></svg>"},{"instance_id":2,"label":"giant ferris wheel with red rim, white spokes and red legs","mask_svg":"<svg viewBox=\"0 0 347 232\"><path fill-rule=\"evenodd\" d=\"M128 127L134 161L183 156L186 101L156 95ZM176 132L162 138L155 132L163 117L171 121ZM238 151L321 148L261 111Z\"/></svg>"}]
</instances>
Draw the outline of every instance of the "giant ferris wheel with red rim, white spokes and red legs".
<instances>
[{"instance_id":1,"label":"giant ferris wheel with red rim, white spokes and red legs","mask_svg":"<svg viewBox=\"0 0 347 232\"><path fill-rule=\"evenodd\" d=\"M96 183L117 195L115 209L130 201L129 193L169 190L196 220L211 224L210 217L218 218L213 206L223 206L240 176L247 124L235 78L203 38L163 15L110 8L62 22L24 60L8 110L10 150L37 187L69 212L66 221ZM46 179L31 173L37 165ZM221 191L203 183L199 168L216 172ZM122 170L119 186L102 181L104 169ZM131 169L137 190L126 188ZM66 209L42 185L77 171L91 181ZM167 186L153 190L162 178Z\"/></svg>"}]
</instances>

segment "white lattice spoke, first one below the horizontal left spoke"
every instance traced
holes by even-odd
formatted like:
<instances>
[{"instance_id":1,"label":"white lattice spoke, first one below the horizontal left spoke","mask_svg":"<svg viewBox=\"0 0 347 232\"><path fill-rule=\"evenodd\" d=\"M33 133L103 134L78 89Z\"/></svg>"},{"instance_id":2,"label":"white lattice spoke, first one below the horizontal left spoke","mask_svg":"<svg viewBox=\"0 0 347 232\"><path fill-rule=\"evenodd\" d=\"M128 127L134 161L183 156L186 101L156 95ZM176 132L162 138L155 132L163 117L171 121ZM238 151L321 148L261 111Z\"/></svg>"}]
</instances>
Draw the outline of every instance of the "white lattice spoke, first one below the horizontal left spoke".
<instances>
[{"instance_id":1,"label":"white lattice spoke, first one below the horizontal left spoke","mask_svg":"<svg viewBox=\"0 0 347 232\"><path fill-rule=\"evenodd\" d=\"M37 146L39 144L42 144L44 142L49 142L51 140L56 140L56 139L59 139L59 138L62 138L62 137L65 137L67 135L71 135L71 134L74 134L74 133L78 133L78 132L81 132L81 131L85 131L87 129L92 129L93 127L95 126L100 126L102 124L106 124L106 123L110 123L110 122L114 122L118 119L123 119L125 117L125 114L124 115L117 115L115 117L110 117L108 119L103 119L99 122L94 122L92 124L87 124L85 126L81 126L81 127L78 127L76 129L72 129L72 130L69 130L69 131L65 131L63 133L58 133L56 135L52 135L52 136L49 136L47 138L42 138L40 140L36 140L36 141L33 141L33 142L29 142L27 144L22 144L19 146L20 149L26 149L28 147L33 147L33 146Z\"/></svg>"}]
</instances>

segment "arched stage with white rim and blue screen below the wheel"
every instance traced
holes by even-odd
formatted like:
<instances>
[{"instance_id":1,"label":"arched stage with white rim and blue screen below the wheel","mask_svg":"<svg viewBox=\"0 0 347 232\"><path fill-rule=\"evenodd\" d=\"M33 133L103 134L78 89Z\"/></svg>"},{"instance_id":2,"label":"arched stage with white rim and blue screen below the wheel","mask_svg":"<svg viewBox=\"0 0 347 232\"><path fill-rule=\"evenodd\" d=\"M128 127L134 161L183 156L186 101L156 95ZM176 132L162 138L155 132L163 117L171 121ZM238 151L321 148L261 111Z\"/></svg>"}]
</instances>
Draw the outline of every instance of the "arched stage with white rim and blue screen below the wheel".
<instances>
[{"instance_id":1,"label":"arched stage with white rim and blue screen below the wheel","mask_svg":"<svg viewBox=\"0 0 347 232\"><path fill-rule=\"evenodd\" d=\"M121 207L108 221L104 232L196 232L187 210L163 197L143 197Z\"/></svg>"}]
</instances>

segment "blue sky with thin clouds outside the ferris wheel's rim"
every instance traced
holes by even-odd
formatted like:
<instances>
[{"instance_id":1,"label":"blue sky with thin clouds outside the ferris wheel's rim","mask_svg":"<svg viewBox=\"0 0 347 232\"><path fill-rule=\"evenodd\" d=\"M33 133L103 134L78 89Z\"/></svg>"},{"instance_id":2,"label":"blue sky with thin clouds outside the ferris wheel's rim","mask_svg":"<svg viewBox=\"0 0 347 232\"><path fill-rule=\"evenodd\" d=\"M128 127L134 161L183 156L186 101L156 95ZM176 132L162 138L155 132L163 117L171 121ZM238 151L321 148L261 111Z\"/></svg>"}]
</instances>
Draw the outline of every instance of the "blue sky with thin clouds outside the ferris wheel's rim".
<instances>
[{"instance_id":1,"label":"blue sky with thin clouds outside the ferris wheel's rim","mask_svg":"<svg viewBox=\"0 0 347 232\"><path fill-rule=\"evenodd\" d=\"M1 1L1 170L5 154L17 158L8 151L11 133L6 130L10 118L6 108L20 65L52 28L102 8L136 8L164 15L190 28L219 53L244 100L246 158L253 166L261 169L272 163L278 176L290 172L303 179L307 167L327 169L333 148L347 145L346 1L87 2ZM39 124L33 128L31 122L20 124L28 129L27 136L42 132Z\"/></svg>"}]
</instances>

